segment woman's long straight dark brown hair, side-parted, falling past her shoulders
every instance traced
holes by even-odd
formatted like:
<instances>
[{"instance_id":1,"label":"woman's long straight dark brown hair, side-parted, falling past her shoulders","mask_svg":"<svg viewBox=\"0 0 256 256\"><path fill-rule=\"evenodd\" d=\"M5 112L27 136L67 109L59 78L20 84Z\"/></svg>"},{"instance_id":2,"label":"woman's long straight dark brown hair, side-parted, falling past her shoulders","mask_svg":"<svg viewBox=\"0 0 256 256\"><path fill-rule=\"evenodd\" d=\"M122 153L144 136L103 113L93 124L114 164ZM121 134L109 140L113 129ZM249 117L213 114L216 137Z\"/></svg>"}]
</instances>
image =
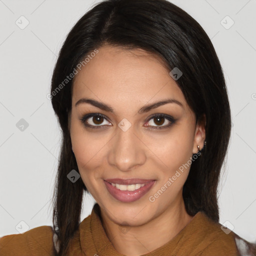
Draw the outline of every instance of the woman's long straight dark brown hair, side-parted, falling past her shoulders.
<instances>
[{"instance_id":1,"label":"woman's long straight dark brown hair, side-parted, falling past her shoulders","mask_svg":"<svg viewBox=\"0 0 256 256\"><path fill-rule=\"evenodd\" d=\"M188 13L167 0L104 0L72 27L52 74L51 103L62 132L53 199L58 255L65 255L68 241L78 230L86 191L81 178L74 183L67 178L71 170L79 172L68 128L73 83L70 74L104 44L144 49L161 57L169 71L174 67L182 71L176 83L196 121L205 114L207 141L201 155L191 163L183 186L185 208L189 215L203 211L219 221L217 185L229 143L231 117L222 68L209 37Z\"/></svg>"}]
</instances>

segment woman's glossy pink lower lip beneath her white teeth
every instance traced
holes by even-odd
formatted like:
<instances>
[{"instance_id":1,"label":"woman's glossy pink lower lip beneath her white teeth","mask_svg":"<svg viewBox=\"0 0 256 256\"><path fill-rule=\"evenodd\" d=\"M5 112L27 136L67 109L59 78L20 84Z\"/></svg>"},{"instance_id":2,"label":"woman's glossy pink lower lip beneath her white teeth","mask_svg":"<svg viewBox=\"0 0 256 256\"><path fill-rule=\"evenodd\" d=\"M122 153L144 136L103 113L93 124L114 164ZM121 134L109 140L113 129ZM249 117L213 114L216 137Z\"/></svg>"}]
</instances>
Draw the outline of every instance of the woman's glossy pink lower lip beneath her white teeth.
<instances>
[{"instance_id":1,"label":"woman's glossy pink lower lip beneath her white teeth","mask_svg":"<svg viewBox=\"0 0 256 256\"><path fill-rule=\"evenodd\" d=\"M105 186L108 192L117 200L122 202L133 202L138 200L140 197L142 197L146 192L150 190L152 185L155 183L155 180L152 180L148 183L146 183L144 186L141 186L138 189L135 189L134 191L128 191L128 190L120 190L117 189L115 186L112 186L109 182L105 181Z\"/></svg>"}]
</instances>

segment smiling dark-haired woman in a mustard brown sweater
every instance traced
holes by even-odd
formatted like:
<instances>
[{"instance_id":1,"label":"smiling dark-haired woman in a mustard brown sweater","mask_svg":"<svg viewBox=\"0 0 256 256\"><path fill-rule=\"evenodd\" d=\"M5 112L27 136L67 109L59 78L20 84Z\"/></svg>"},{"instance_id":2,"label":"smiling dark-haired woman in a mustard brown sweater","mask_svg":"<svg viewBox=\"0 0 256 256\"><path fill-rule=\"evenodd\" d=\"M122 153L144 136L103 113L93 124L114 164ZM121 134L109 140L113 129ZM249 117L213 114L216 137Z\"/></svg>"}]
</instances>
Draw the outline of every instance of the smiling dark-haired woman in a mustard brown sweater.
<instances>
[{"instance_id":1,"label":"smiling dark-haired woman in a mustard brown sweater","mask_svg":"<svg viewBox=\"0 0 256 256\"><path fill-rule=\"evenodd\" d=\"M240 255L218 223L225 81L185 11L98 3L66 37L49 97L63 138L53 228L2 237L0 255ZM96 204L79 223L84 191Z\"/></svg>"}]
</instances>

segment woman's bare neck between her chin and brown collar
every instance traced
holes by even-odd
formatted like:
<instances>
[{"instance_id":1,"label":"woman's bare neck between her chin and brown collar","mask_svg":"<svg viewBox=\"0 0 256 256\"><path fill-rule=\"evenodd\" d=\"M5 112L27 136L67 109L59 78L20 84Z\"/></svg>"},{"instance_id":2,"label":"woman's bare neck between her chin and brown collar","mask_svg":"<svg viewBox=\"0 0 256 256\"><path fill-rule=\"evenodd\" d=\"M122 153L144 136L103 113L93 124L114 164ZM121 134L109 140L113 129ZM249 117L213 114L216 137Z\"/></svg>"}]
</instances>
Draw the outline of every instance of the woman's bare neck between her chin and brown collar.
<instances>
[{"instance_id":1,"label":"woman's bare neck between her chin and brown collar","mask_svg":"<svg viewBox=\"0 0 256 256\"><path fill-rule=\"evenodd\" d=\"M126 227L126 231L102 211L101 218L105 233L116 251L127 256L138 256L167 243L191 221L192 216L187 214L182 198L156 218L140 226Z\"/></svg>"}]
</instances>

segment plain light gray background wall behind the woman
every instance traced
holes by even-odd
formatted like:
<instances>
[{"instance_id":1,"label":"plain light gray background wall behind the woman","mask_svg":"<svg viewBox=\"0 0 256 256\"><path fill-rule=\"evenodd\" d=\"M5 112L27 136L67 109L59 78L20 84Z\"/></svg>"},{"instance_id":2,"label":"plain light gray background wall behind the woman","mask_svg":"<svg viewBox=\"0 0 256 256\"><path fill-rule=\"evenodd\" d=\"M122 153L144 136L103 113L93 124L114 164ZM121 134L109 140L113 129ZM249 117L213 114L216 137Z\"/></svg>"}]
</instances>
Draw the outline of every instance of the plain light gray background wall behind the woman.
<instances>
[{"instance_id":1,"label":"plain light gray background wall behind the woman","mask_svg":"<svg viewBox=\"0 0 256 256\"><path fill-rule=\"evenodd\" d=\"M46 94L66 34L95 2L0 0L0 236L19 233L20 225L52 225L60 132ZM172 2L201 24L222 64L233 126L219 184L220 223L228 220L234 232L254 241L256 0ZM21 15L29 21L24 29L15 23ZM234 21L228 29L226 15ZM21 118L29 124L23 131L16 127ZM81 220L94 204L89 195L85 200Z\"/></svg>"}]
</instances>

